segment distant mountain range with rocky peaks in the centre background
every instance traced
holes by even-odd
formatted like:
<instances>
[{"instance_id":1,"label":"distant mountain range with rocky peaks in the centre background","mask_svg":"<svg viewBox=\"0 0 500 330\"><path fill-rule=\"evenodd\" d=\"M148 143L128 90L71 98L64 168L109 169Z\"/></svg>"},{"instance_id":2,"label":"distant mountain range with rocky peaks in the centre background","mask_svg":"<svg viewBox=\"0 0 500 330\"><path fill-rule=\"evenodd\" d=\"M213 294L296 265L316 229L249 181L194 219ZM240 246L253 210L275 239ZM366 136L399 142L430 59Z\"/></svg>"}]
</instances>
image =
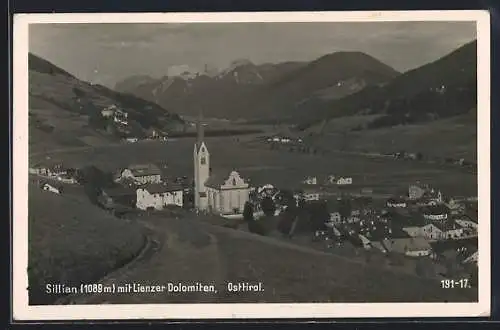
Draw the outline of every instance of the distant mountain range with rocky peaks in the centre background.
<instances>
[{"instance_id":1,"label":"distant mountain range with rocky peaks in the centre background","mask_svg":"<svg viewBox=\"0 0 500 330\"><path fill-rule=\"evenodd\" d=\"M126 79L116 90L148 99L181 115L227 119L285 119L303 104L350 95L399 73L369 55L338 52L312 62L254 64L239 59L218 74L184 79ZM135 85L134 85L135 84Z\"/></svg>"}]
</instances>

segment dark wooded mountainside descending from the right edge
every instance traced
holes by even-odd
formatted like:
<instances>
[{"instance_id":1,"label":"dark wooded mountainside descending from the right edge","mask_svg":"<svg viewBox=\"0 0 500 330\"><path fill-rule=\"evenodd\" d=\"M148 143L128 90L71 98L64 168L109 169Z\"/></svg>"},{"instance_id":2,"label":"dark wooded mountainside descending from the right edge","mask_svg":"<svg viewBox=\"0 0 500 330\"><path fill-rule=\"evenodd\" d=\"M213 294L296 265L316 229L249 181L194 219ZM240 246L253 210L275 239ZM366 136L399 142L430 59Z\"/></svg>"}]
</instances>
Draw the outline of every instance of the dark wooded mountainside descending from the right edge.
<instances>
[{"instance_id":1,"label":"dark wooded mountainside descending from the right edge","mask_svg":"<svg viewBox=\"0 0 500 330\"><path fill-rule=\"evenodd\" d=\"M477 107L477 43L339 100L303 107L300 128L350 115L378 115L362 128L421 123L465 114Z\"/></svg>"}]
</instances>

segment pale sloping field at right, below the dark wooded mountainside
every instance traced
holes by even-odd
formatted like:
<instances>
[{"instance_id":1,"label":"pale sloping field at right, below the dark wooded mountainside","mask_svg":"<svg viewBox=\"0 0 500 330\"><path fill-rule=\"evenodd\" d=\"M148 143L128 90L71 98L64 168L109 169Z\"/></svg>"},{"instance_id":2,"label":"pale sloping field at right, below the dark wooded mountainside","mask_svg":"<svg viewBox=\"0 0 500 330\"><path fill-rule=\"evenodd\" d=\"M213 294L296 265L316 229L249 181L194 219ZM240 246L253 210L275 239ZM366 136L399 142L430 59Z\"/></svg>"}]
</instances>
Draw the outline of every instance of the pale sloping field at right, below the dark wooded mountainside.
<instances>
[{"instance_id":1,"label":"pale sloping field at right, below the dark wooded mountainside","mask_svg":"<svg viewBox=\"0 0 500 330\"><path fill-rule=\"evenodd\" d=\"M464 158L477 161L477 115L465 114L423 125L351 131L373 116L333 119L324 126L325 135L317 138L324 148L394 153L420 152L432 157ZM320 126L311 128L318 132Z\"/></svg>"}]
</instances>

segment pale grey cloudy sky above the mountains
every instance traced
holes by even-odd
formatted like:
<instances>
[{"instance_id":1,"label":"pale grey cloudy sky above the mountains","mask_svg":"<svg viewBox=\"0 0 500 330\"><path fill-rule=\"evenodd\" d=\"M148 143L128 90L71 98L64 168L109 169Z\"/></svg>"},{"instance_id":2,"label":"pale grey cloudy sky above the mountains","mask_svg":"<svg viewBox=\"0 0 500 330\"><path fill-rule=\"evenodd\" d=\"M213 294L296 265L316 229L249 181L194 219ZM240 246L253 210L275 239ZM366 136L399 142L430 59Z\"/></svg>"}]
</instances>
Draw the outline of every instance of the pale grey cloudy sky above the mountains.
<instances>
[{"instance_id":1,"label":"pale grey cloudy sky above the mountains","mask_svg":"<svg viewBox=\"0 0 500 330\"><path fill-rule=\"evenodd\" d=\"M404 72L476 38L475 22L32 24L30 52L76 77L113 88L133 75L311 61L365 52Z\"/></svg>"}]
</instances>

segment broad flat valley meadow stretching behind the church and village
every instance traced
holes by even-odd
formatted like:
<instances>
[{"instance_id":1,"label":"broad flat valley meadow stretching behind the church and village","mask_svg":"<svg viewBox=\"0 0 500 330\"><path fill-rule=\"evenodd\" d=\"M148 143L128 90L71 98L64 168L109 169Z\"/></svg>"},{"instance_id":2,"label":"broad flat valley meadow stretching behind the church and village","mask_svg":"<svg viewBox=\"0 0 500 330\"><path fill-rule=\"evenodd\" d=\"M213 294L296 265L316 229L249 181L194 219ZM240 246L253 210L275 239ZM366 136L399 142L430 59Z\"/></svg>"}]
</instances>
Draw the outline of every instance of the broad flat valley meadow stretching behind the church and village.
<instances>
[{"instance_id":1,"label":"broad flat valley meadow stretching behind the church and village","mask_svg":"<svg viewBox=\"0 0 500 330\"><path fill-rule=\"evenodd\" d=\"M54 153L51 157L66 166L93 164L107 171L134 163L167 162L167 175L192 177L193 143L191 138L139 142ZM251 148L235 137L207 138L206 143L213 171L236 169L256 185L271 183L278 187L294 187L306 176L333 174L351 176L356 189L370 187L374 191L401 192L408 184L419 180L439 187L445 194L477 195L476 176L447 165L333 152L326 155L300 154L270 150L265 145Z\"/></svg>"}]
</instances>

